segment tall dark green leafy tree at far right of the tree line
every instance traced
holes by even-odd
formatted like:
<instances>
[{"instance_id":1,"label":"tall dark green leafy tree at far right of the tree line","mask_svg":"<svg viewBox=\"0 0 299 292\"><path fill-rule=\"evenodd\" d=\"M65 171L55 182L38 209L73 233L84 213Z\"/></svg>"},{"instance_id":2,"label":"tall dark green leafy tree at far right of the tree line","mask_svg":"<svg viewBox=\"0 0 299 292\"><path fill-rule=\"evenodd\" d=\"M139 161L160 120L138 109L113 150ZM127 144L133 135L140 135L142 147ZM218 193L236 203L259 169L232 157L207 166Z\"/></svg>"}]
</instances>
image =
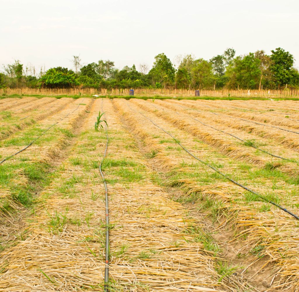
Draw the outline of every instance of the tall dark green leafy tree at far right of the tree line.
<instances>
[{"instance_id":1,"label":"tall dark green leafy tree at far right of the tree line","mask_svg":"<svg viewBox=\"0 0 299 292\"><path fill-rule=\"evenodd\" d=\"M280 86L288 84L291 81L291 68L294 63L294 58L292 54L282 48L276 48L275 51L272 50L271 53L270 70L276 85L280 88Z\"/></svg>"}]
</instances>

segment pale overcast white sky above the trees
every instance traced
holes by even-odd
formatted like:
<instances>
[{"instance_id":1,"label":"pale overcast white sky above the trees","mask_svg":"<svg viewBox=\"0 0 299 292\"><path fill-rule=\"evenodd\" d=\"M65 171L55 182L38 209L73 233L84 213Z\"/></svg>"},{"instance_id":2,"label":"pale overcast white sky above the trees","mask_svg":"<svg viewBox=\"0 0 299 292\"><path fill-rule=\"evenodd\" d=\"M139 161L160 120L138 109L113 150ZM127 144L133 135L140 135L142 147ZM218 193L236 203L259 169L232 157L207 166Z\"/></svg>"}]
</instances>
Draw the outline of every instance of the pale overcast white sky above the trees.
<instances>
[{"instance_id":1,"label":"pale overcast white sky above the trees","mask_svg":"<svg viewBox=\"0 0 299 292\"><path fill-rule=\"evenodd\" d=\"M0 0L0 11L1 69L14 59L71 68L79 54L84 64L151 67L158 53L210 59L228 47L281 47L299 67L298 0Z\"/></svg>"}]
</instances>

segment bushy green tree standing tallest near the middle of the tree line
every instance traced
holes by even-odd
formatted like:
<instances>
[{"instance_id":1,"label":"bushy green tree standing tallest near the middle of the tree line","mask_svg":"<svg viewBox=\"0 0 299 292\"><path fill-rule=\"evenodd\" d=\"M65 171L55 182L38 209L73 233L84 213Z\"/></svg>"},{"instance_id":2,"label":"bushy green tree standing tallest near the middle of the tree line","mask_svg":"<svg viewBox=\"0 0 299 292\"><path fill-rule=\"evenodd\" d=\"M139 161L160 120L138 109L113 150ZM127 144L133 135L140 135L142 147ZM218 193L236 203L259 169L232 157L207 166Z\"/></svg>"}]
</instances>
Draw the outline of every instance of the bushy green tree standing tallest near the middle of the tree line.
<instances>
[{"instance_id":1,"label":"bushy green tree standing tallest near the middle of the tree line","mask_svg":"<svg viewBox=\"0 0 299 292\"><path fill-rule=\"evenodd\" d=\"M171 85L174 82L175 73L175 68L164 53L155 56L154 65L149 71L153 85L156 82L163 84L164 88Z\"/></svg>"}]
</instances>

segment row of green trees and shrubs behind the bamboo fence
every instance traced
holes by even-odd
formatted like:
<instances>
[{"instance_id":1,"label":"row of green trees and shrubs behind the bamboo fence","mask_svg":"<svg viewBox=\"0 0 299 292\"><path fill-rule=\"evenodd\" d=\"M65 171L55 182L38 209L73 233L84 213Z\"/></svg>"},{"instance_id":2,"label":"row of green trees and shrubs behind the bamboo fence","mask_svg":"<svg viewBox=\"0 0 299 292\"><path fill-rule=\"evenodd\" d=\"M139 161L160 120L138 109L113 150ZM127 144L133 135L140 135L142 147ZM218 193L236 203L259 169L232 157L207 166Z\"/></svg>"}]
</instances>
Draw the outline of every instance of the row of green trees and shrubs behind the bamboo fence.
<instances>
[{"instance_id":1,"label":"row of green trees and shrubs behind the bamboo fence","mask_svg":"<svg viewBox=\"0 0 299 292\"><path fill-rule=\"evenodd\" d=\"M37 73L34 66L4 65L0 88L192 88L192 89L281 89L299 88L299 72L294 57L282 48L267 55L256 51L235 56L228 48L210 60L196 59L192 54L176 56L175 65L164 54L155 56L152 68L133 64L122 70L110 60L81 65L80 56L73 56L72 69L56 67Z\"/></svg>"}]
</instances>

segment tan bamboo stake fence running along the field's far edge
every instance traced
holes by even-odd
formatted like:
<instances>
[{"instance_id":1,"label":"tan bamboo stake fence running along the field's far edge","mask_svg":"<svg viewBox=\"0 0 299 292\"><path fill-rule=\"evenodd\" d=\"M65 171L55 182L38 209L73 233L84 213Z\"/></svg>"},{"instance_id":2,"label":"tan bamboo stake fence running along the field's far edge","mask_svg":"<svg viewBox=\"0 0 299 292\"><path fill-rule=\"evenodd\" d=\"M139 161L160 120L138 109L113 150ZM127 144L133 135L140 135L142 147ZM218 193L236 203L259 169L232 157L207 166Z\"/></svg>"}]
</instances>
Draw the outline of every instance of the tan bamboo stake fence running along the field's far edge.
<instances>
[{"instance_id":1,"label":"tan bamboo stake fence running along the field's far edge","mask_svg":"<svg viewBox=\"0 0 299 292\"><path fill-rule=\"evenodd\" d=\"M281 97L291 98L299 97L299 90L283 89L283 90L248 90L248 89L219 89L219 90L199 90L200 96L211 97ZM129 88L106 89L106 88L1 88L0 95L26 94L26 95L129 95ZM195 96L195 89L173 89L173 88L136 88L134 95L139 96L177 96L191 97Z\"/></svg>"}]
</instances>

